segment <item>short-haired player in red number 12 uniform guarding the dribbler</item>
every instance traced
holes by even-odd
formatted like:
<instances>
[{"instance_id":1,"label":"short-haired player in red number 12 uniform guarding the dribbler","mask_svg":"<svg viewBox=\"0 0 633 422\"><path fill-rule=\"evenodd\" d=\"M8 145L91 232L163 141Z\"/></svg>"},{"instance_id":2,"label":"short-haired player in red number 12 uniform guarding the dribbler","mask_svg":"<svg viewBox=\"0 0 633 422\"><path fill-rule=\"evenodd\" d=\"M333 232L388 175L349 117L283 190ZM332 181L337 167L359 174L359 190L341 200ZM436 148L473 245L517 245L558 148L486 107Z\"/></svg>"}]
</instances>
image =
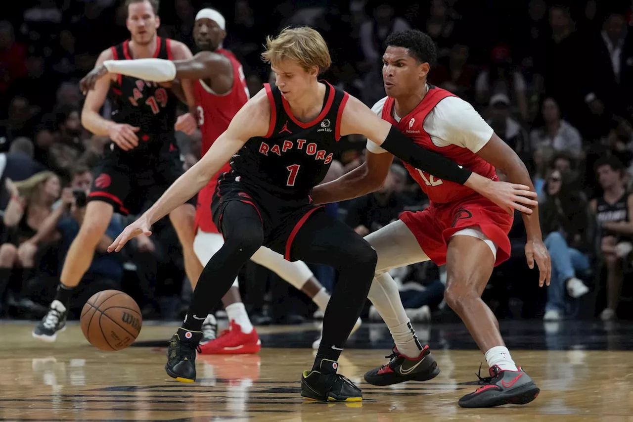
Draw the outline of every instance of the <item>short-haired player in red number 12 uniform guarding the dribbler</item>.
<instances>
[{"instance_id":1,"label":"short-haired player in red number 12 uniform guarding the dribbler","mask_svg":"<svg viewBox=\"0 0 633 422\"><path fill-rule=\"evenodd\" d=\"M418 30L397 32L387 37L385 45L382 74L388 96L373 106L375 113L424 148L492 180L498 180L495 168L499 169L509 181L534 191L520 158L472 106L427 83L430 65L436 58L436 46L428 35ZM391 154L368 142L367 162L335 181L316 186L311 195L316 203L327 203L375 191L387 176L392 160ZM368 298L396 342L391 361L369 371L365 380L375 385L415 380L418 368L425 367L428 347L420 347L404 313L398 287L387 271L430 259L437 265L446 264L446 303L466 324L490 367L491 377L482 378L484 385L462 397L460 406L491 407L534 400L539 389L513 362L496 318L480 298L494 266L510 256L511 215L472 189L438 179L432 172L409 164L406 168L429 196L431 205L422 212L404 212L399 221L365 238L378 255L376 278ZM549 285L551 264L538 218L536 210L523 214L528 239L525 256L530 268L536 261L542 286Z\"/></svg>"}]
</instances>

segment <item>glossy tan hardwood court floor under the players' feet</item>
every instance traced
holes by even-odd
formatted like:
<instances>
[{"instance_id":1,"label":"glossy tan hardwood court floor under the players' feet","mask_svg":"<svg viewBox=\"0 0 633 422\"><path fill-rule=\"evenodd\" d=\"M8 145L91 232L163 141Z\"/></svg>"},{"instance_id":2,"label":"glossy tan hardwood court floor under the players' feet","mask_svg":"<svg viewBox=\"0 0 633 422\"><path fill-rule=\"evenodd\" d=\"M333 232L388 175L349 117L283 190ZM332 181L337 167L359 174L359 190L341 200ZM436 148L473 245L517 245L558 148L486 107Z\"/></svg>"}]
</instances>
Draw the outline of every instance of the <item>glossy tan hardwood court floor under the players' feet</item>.
<instances>
[{"instance_id":1,"label":"glossy tan hardwood court floor under the players' feet","mask_svg":"<svg viewBox=\"0 0 633 422\"><path fill-rule=\"evenodd\" d=\"M426 383L372 387L362 375L389 350L346 349L339 372L360 383L361 404L304 402L299 376L313 361L308 348L263 348L258 355L201 356L198 380L166 376L165 348L100 352L78 325L49 345L31 338L31 324L0 323L1 421L606 421L633 422L633 352L512 350L541 394L527 406L461 409L476 387L477 350L434 350L441 374ZM262 338L292 336L301 327L261 329ZM313 328L311 329L313 330ZM139 343L160 340L174 326L143 327ZM484 364L485 367L485 364Z\"/></svg>"}]
</instances>

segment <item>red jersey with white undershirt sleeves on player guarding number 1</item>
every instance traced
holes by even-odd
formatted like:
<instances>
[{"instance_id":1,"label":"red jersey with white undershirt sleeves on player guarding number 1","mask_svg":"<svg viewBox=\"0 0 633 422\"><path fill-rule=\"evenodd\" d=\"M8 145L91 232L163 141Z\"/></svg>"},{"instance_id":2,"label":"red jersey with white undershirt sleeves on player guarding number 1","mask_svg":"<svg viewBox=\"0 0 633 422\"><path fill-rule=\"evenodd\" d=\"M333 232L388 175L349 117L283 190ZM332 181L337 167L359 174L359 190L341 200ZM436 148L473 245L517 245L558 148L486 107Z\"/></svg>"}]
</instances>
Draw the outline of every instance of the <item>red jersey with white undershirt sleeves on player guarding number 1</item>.
<instances>
[{"instance_id":1,"label":"red jersey with white undershirt sleeves on player guarding number 1","mask_svg":"<svg viewBox=\"0 0 633 422\"><path fill-rule=\"evenodd\" d=\"M398 117L395 105L395 99L385 97L372 110L423 148L436 151L481 176L499 180L494 166L477 155L492 137L492 127L467 101L429 85L429 92L408 115ZM367 141L367 150L377 154L387 152L372 141ZM404 165L432 203L450 203L478 195L466 186L437 179L408 163Z\"/></svg>"}]
</instances>

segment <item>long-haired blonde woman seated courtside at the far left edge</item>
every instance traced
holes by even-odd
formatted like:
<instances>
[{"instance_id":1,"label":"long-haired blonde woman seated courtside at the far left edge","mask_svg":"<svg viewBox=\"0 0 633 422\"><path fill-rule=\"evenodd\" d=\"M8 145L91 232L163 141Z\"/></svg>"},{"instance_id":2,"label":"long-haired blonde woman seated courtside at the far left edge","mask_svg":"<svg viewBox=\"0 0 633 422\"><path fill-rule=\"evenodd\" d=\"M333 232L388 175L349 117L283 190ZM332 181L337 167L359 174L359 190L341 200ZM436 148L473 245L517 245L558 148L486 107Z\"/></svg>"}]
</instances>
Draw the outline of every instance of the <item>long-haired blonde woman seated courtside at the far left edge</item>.
<instances>
[{"instance_id":1,"label":"long-haired blonde woman seated courtside at the far left edge","mask_svg":"<svg viewBox=\"0 0 633 422\"><path fill-rule=\"evenodd\" d=\"M4 211L3 242L0 246L0 296L11 279L11 270L22 269L22 282L33 275L37 245L31 240L51 214L51 207L60 197L61 191L60 178L48 171L39 172L21 182L14 183L6 179L6 184L11 192L11 200Z\"/></svg>"}]
</instances>

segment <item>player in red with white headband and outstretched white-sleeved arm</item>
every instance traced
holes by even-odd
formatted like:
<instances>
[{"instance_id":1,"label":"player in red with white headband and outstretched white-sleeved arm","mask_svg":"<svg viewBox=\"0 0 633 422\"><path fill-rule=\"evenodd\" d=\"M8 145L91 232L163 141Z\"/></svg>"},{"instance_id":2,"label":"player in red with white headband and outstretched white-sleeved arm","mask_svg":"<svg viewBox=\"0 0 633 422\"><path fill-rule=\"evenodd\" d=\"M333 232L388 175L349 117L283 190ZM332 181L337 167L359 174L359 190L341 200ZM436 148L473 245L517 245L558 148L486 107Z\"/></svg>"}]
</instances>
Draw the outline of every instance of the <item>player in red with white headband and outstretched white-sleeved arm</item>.
<instances>
[{"instance_id":1,"label":"player in red with white headband and outstretched white-sleeved arm","mask_svg":"<svg viewBox=\"0 0 633 422\"><path fill-rule=\"evenodd\" d=\"M226 36L225 19L218 11L205 8L196 15L194 23L194 41L201 53L189 60L179 61L175 78L191 79L197 103L197 124L202 131L202 154L209 150L211 144L229 127L235 113L248 101L249 93L244 80L242 65L235 56L222 48ZM134 62L120 63L117 71L126 75L127 67ZM105 67L95 68L82 80L82 89L92 89L96 80L108 74ZM152 75L144 79L153 80ZM176 129L192 133L197 127L196 119L187 113L178 119ZM211 217L211 200L215 192L220 174L230 171L229 163L211 178L197 197L196 239L194 251L203 265L215 255L224 240L222 234L213 223ZM289 262L282 255L262 246L251 257L253 262L263 265L298 290L302 290L325 312L330 299L329 293L314 277L304 262ZM194 285L195 287L195 285ZM260 338L246 313L239 294L239 286L235 279L233 286L222 298L230 321L230 329L219 338L215 338L216 323L212 314L206 316L203 323L203 338L200 341L203 354L248 354L257 353L261 348ZM360 318L354 325L353 332L361 325ZM318 348L320 339L313 343Z\"/></svg>"}]
</instances>

